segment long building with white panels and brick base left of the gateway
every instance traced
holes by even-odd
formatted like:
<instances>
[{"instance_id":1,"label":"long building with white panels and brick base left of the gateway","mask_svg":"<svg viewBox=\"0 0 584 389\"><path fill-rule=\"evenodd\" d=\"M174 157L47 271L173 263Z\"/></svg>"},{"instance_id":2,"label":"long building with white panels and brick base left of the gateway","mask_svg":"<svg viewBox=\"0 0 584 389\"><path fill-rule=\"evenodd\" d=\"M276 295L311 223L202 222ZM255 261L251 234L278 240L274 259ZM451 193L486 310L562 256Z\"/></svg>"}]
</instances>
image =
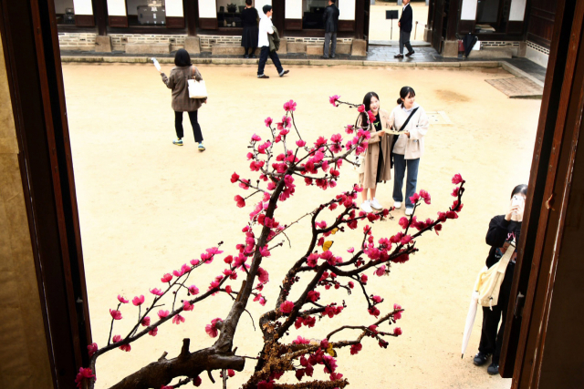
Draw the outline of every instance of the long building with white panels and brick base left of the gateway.
<instances>
[{"instance_id":1,"label":"long building with white panels and brick base left of the gateway","mask_svg":"<svg viewBox=\"0 0 584 389\"><path fill-rule=\"evenodd\" d=\"M337 1L339 54L365 55L369 3ZM263 5L273 6L274 26L289 44L280 51L319 54L328 0L254 4L260 13ZM185 47L193 54L238 54L244 7L245 0L55 0L55 17L61 50L168 54Z\"/></svg>"}]
</instances>

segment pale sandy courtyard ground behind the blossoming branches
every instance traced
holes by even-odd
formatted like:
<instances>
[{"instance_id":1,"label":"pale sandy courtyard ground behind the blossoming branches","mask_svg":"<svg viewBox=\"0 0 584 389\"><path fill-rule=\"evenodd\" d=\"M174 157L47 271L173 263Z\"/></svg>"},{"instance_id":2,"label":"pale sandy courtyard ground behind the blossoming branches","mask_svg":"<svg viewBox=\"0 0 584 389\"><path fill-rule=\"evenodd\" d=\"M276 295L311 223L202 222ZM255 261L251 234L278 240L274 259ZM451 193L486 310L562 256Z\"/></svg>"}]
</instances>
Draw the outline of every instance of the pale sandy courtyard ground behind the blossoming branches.
<instances>
[{"instance_id":1,"label":"pale sandy courtyard ground behind the blossoming branches","mask_svg":"<svg viewBox=\"0 0 584 389\"><path fill-rule=\"evenodd\" d=\"M164 69L170 72L170 67ZM370 274L369 292L385 298L381 312L388 312L394 302L405 308L398 322L403 335L389 339L387 350L366 340L358 355L339 351L338 372L353 388L508 388L510 380L489 376L486 366L472 363L481 313L464 359L461 339L474 279L488 251L488 222L506 210L511 189L528 180L540 101L508 99L487 84L487 78L509 77L497 68L290 67L283 78L276 77L273 67L266 69L271 78L258 80L251 66L200 67L210 91L209 103L199 111L207 147L200 153L186 117L185 146L172 145L171 93L151 65L64 66L94 342L99 346L107 342L109 309L117 305L119 293L130 300L140 294L150 298L149 288L162 287L165 272L198 258L219 241L224 241L224 255L235 252L251 206L235 206L235 195L244 193L229 178L234 171L255 178L245 154L252 134L267 137L264 118L280 118L283 103L292 98L297 101L297 126L309 142L335 133L347 138L342 128L354 122L356 111L332 107L329 96L360 102L374 90L381 107L391 110L400 87L409 85L426 111L444 111L452 120L451 125L433 125L428 131L418 189L432 194L432 205L423 206L419 216L435 217L452 204L450 179L457 172L467 180L464 210L460 219L444 225L440 236L433 232L422 236L420 252L411 261L394 265L389 277ZM356 173L344 166L336 189L323 191L297 182L297 194L276 211L276 219L296 220L349 189L356 179ZM385 207L392 205L391 189L392 182L378 189L377 198ZM403 210L393 216L394 220L375 224L377 238L400 230L397 221ZM330 222L330 213L327 218ZM273 306L283 275L306 251L306 227L300 223L290 230L292 248L276 249L265 261L270 273L268 303L266 307L251 303L255 318ZM333 251L346 256L345 250L358 246L360 239L360 229L337 234ZM223 271L222 265L223 261L214 261L191 280L206 290ZM241 278L232 282L235 289L240 282ZM298 334L321 339L340 325L374 321L359 293L321 292L322 302L344 299L349 307L310 331L303 327L290 333L288 341ZM211 345L214 340L204 333L204 325L225 317L230 306L226 296L215 296L186 312L182 325L167 323L155 338L133 343L130 353L115 350L100 357L98 387L117 383L164 351L169 357L177 355L185 337L192 339L192 351ZM113 333L123 336L138 313L130 303L122 307L122 314L124 320L116 322ZM255 356L261 333L254 331L248 315L240 323L237 353ZM356 336L341 333L337 340ZM245 371L228 387L245 382L252 362L247 361ZM219 387L203 375L203 388ZM315 375L323 376L321 371ZM290 375L285 381L296 379Z\"/></svg>"}]
</instances>

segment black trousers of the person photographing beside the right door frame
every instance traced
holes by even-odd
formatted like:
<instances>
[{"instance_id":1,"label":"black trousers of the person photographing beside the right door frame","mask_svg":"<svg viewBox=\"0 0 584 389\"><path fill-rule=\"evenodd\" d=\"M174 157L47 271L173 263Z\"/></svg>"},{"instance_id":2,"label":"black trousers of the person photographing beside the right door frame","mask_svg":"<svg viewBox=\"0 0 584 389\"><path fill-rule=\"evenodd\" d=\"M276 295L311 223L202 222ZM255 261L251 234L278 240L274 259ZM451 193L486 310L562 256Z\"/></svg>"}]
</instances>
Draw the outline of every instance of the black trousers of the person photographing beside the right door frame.
<instances>
[{"instance_id":1,"label":"black trousers of the person photographing beside the right door frame","mask_svg":"<svg viewBox=\"0 0 584 389\"><path fill-rule=\"evenodd\" d=\"M503 345L503 334L505 333L505 320L507 315L507 306L509 305L509 294L511 284L513 283L513 271L515 263L509 262L505 272L505 278L501 284L499 300L491 311L490 307L483 307L483 329L481 330L481 342L478 345L478 351L481 353L493 354L493 363L499 364L501 356L501 346ZM503 317L503 322L499 327L499 321ZM499 329L497 333L497 327Z\"/></svg>"}]
</instances>

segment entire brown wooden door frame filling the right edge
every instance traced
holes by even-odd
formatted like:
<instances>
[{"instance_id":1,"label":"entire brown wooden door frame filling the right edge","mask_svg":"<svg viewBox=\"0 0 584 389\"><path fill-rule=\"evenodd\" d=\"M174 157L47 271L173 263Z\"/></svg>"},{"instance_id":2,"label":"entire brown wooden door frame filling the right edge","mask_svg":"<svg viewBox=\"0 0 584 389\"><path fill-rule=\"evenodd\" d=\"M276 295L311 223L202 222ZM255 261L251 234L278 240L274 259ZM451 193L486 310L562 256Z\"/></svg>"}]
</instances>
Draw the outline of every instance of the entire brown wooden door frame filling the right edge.
<instances>
[{"instance_id":1,"label":"entire brown wooden door frame filling the right edge","mask_svg":"<svg viewBox=\"0 0 584 389\"><path fill-rule=\"evenodd\" d=\"M558 1L500 366L515 389L584 383L583 24Z\"/></svg>"}]
</instances>

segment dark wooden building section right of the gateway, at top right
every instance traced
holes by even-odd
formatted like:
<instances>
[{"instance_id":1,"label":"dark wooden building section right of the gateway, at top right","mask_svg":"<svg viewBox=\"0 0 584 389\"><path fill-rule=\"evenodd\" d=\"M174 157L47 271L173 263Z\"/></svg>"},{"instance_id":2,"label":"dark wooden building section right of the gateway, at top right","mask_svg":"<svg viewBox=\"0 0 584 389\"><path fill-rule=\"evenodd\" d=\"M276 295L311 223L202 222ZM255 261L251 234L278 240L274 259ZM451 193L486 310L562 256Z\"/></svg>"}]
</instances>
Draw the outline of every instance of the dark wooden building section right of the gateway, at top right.
<instances>
[{"instance_id":1,"label":"dark wooden building section right of the gateway, at top right","mask_svg":"<svg viewBox=\"0 0 584 389\"><path fill-rule=\"evenodd\" d=\"M547 67L557 3L431 0L425 38L443 56L458 56L458 37L471 33L478 37L486 55L489 51L510 51Z\"/></svg>"}]
</instances>

